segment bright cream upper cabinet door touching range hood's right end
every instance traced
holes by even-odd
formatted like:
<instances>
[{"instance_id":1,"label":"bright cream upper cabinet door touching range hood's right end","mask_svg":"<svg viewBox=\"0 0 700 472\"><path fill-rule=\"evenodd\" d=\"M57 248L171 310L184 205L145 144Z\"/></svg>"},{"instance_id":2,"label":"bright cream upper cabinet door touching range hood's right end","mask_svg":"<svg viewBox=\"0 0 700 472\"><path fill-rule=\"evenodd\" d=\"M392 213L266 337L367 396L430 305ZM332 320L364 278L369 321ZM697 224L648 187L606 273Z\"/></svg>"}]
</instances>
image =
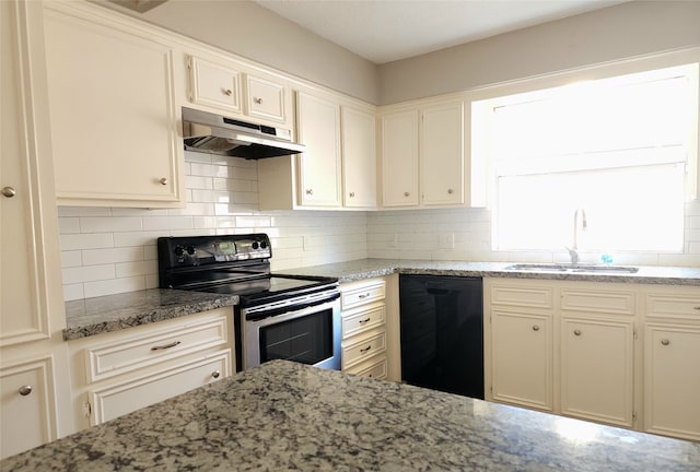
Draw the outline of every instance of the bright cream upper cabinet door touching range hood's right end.
<instances>
[{"instance_id":1,"label":"bright cream upper cabinet door touching range hood's right end","mask_svg":"<svg viewBox=\"0 0 700 472\"><path fill-rule=\"evenodd\" d=\"M296 96L300 204L340 206L340 106L300 92Z\"/></svg>"}]
</instances>

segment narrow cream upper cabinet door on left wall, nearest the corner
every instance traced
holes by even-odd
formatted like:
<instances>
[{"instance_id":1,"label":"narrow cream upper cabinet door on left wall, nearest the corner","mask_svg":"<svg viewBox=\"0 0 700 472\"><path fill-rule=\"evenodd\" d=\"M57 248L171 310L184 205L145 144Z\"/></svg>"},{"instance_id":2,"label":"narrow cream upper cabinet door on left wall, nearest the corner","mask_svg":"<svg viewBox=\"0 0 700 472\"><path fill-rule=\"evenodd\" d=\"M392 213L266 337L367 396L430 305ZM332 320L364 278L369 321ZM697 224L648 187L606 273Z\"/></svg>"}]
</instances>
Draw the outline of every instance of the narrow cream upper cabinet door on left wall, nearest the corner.
<instances>
[{"instance_id":1,"label":"narrow cream upper cabinet door on left wall, nearest the corner","mask_svg":"<svg viewBox=\"0 0 700 472\"><path fill-rule=\"evenodd\" d=\"M376 120L374 114L342 107L343 204L376 206Z\"/></svg>"}]
</instances>

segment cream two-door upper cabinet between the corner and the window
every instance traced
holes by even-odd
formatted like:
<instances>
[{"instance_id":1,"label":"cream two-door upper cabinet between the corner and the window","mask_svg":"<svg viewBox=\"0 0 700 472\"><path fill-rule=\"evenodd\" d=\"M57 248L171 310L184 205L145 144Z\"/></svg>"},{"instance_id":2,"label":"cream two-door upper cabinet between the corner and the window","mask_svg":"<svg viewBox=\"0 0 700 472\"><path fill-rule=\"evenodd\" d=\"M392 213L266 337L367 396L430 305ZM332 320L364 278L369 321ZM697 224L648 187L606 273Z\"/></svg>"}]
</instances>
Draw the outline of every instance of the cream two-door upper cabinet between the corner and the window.
<instances>
[{"instance_id":1,"label":"cream two-door upper cabinet between the corner and the window","mask_svg":"<svg viewBox=\"0 0 700 472\"><path fill-rule=\"evenodd\" d=\"M465 204L460 98L389 106L381 113L382 205Z\"/></svg>"}]
</instances>

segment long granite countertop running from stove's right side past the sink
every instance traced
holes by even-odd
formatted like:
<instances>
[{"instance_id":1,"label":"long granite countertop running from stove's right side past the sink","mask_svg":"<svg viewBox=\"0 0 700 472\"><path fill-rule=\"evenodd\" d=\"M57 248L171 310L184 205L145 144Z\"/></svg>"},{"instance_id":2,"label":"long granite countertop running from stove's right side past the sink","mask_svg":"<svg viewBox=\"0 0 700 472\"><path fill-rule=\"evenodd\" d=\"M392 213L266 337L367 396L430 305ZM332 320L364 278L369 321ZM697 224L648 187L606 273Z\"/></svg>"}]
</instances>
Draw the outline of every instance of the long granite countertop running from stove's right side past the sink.
<instances>
[{"instance_id":1,"label":"long granite countertop running from stove's right side past the sink","mask_svg":"<svg viewBox=\"0 0 700 472\"><path fill-rule=\"evenodd\" d=\"M639 266L639 272L635 273L537 272L532 270L520 271L506 269L514 263L515 262L360 259L348 262L289 269L278 271L277 273L335 276L338 278L340 282L385 276L393 273L407 273L700 286L700 268Z\"/></svg>"}]
</instances>

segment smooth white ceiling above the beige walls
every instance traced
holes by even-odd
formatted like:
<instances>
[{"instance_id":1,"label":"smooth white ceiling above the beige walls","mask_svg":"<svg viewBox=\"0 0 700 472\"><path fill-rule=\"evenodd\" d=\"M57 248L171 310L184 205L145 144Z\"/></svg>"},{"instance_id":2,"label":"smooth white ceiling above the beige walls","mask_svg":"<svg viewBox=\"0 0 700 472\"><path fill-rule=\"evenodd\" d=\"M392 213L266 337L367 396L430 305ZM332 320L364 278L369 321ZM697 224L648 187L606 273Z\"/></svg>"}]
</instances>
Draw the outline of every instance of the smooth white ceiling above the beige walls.
<instances>
[{"instance_id":1,"label":"smooth white ceiling above the beige walls","mask_svg":"<svg viewBox=\"0 0 700 472\"><path fill-rule=\"evenodd\" d=\"M254 0L385 63L629 0Z\"/></svg>"}]
</instances>

